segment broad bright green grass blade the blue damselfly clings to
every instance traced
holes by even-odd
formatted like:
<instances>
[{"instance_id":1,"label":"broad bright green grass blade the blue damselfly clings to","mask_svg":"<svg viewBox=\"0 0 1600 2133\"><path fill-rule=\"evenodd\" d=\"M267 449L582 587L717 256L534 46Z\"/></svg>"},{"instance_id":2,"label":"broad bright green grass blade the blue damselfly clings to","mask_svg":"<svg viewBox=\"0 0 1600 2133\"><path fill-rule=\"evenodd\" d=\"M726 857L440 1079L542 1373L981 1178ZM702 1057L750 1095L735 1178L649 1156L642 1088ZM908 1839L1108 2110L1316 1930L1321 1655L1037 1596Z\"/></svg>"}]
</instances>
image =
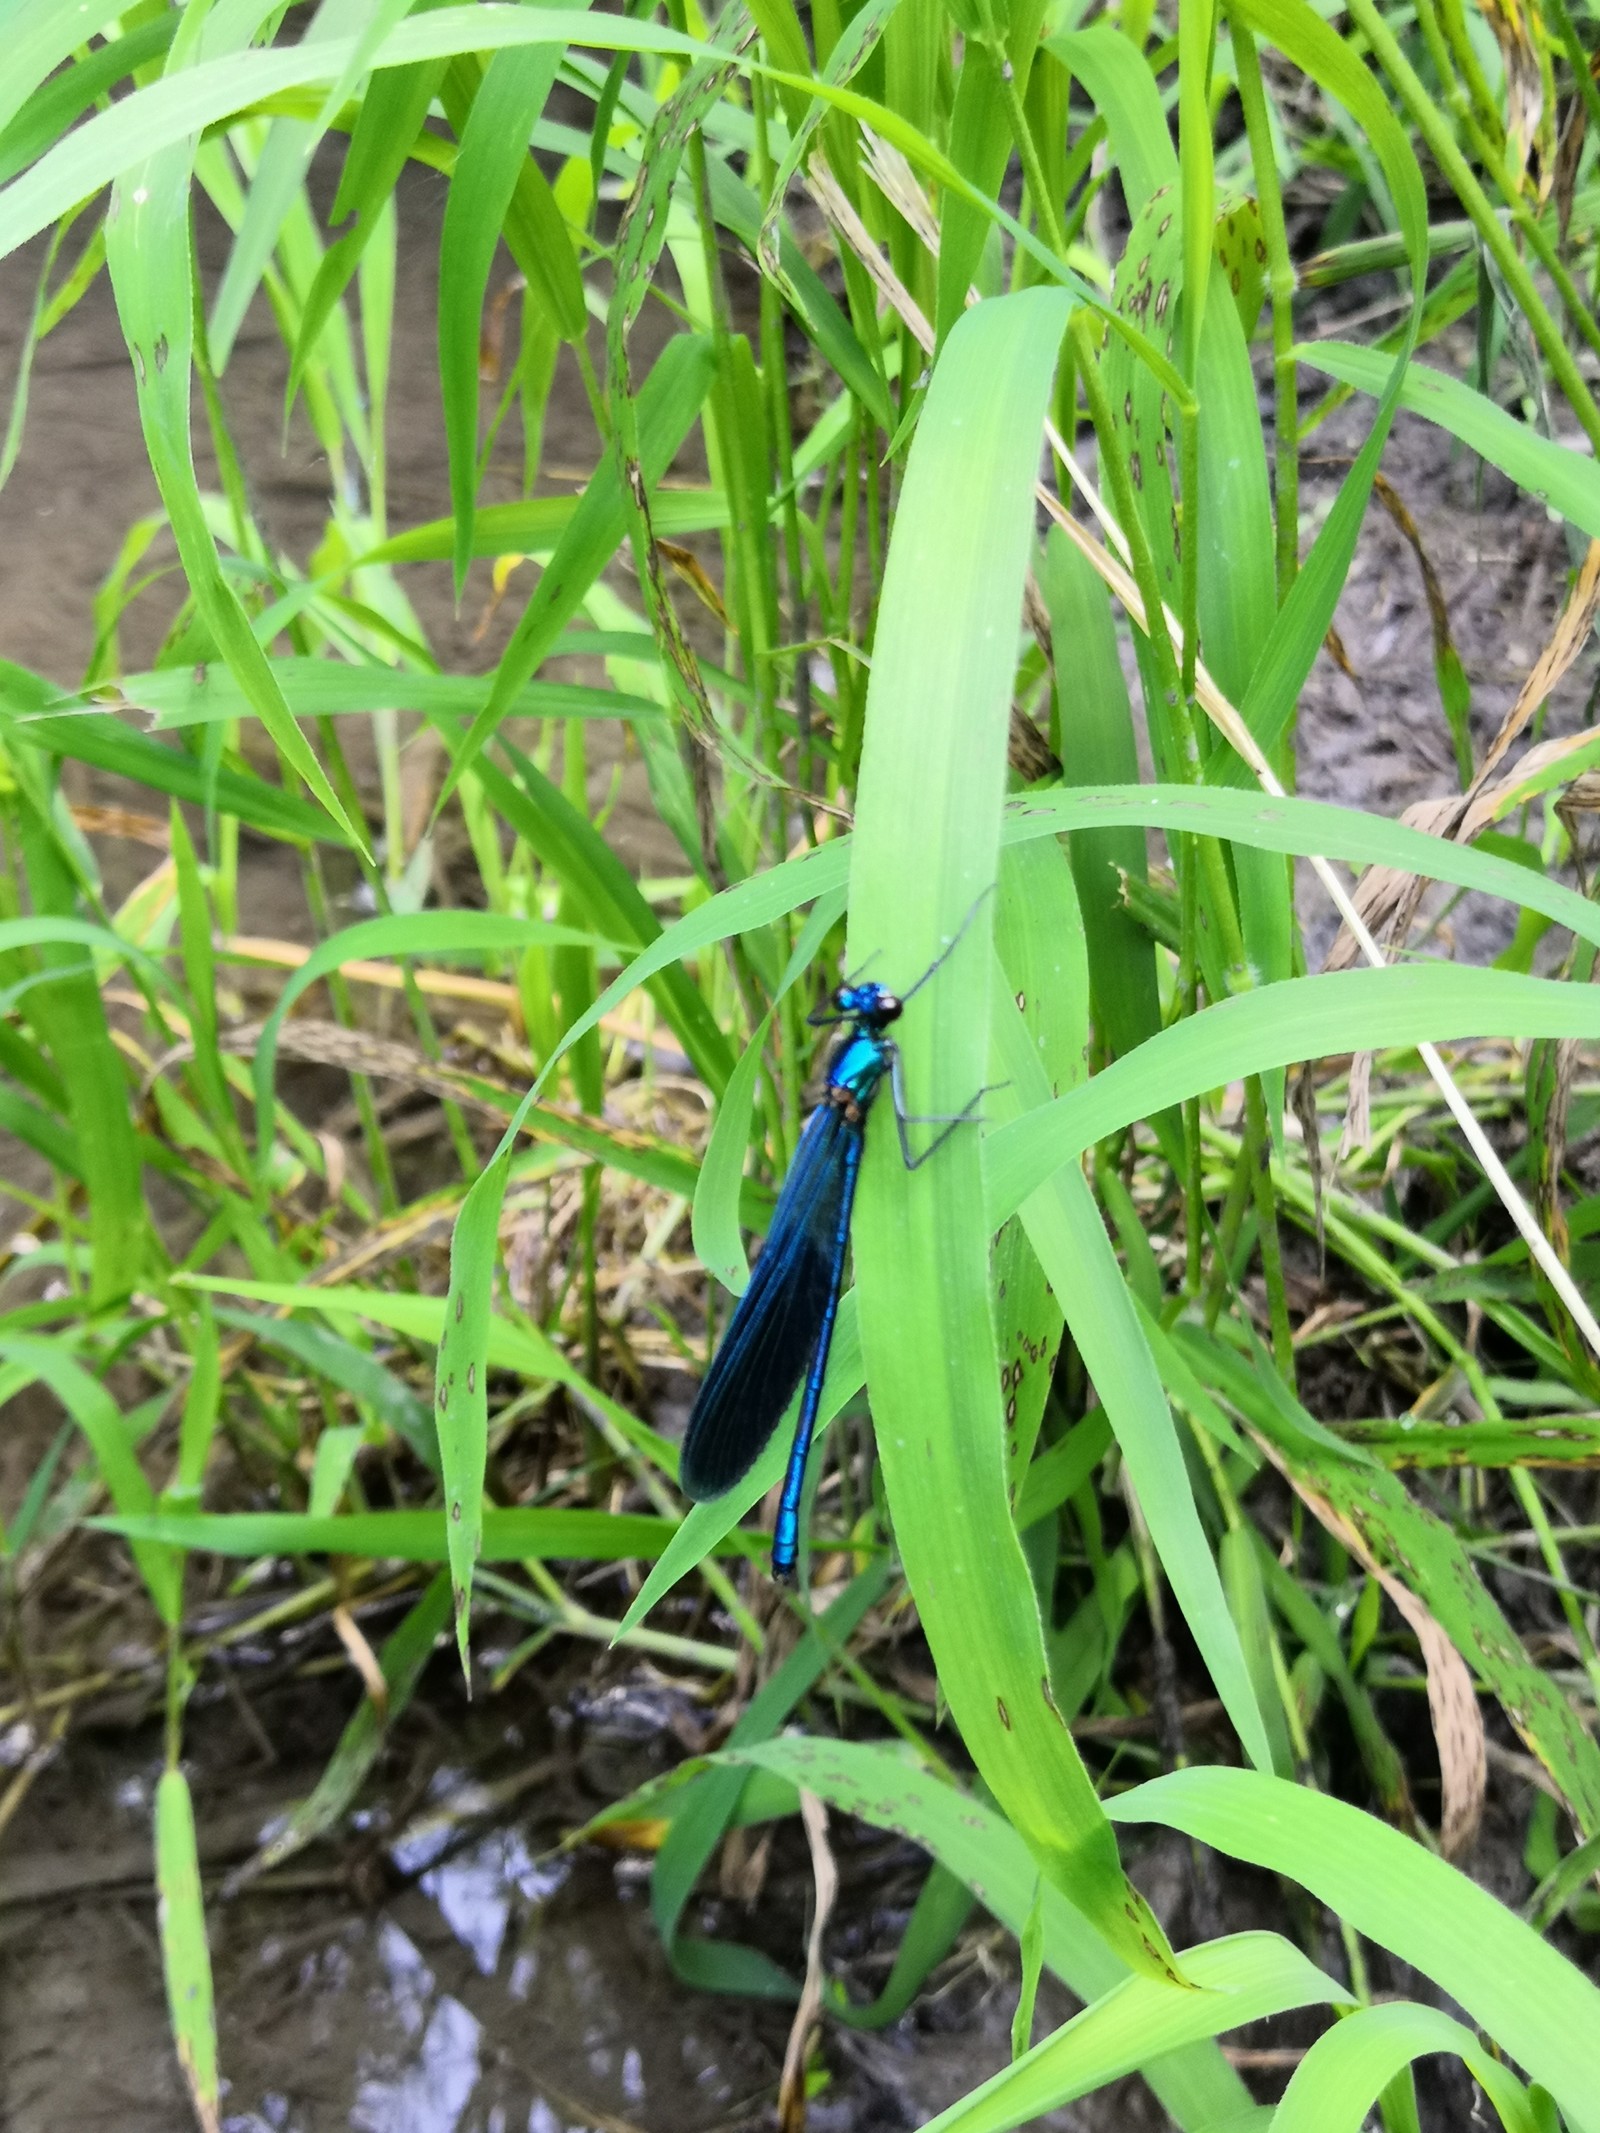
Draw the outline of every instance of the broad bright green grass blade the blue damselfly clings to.
<instances>
[{"instance_id":1,"label":"broad bright green grass blade the blue damselfly clings to","mask_svg":"<svg viewBox=\"0 0 1600 2133\"><path fill-rule=\"evenodd\" d=\"M994 881L1033 480L1060 292L969 311L934 369L890 544L851 860L851 960L900 985ZM919 894L907 896L917 881ZM913 1111L956 1113L986 1077L979 909L962 953L909 1007ZM855 1282L896 1538L941 1685L994 1796L1131 1967L1173 1975L1107 1841L1050 1698L1033 1581L1005 1493L990 1224L977 1135L909 1177L868 1135ZM939 1365L934 1365L939 1359Z\"/></svg>"}]
</instances>

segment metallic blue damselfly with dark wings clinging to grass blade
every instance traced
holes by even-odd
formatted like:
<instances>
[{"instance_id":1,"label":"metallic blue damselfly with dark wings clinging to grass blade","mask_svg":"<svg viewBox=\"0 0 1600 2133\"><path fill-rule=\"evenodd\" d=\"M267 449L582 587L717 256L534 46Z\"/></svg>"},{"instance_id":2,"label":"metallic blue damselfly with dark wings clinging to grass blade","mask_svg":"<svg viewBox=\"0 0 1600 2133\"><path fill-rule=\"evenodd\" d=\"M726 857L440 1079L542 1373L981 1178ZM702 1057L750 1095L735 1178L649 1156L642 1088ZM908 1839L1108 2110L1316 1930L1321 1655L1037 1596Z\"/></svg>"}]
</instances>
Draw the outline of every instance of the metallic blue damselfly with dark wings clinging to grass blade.
<instances>
[{"instance_id":1,"label":"metallic blue damselfly with dark wings clinging to grass blade","mask_svg":"<svg viewBox=\"0 0 1600 2133\"><path fill-rule=\"evenodd\" d=\"M689 1433L683 1440L683 1491L695 1502L706 1502L725 1495L749 1474L804 1376L800 1421L772 1527L772 1574L779 1578L794 1572L800 1553L800 1493L845 1280L866 1113L887 1079L894 1122L900 1128L900 1156L905 1167L915 1171L945 1145L956 1126L973 1118L983 1094L979 1090L954 1118L909 1118L900 1052L885 1035L890 1024L900 1020L907 1000L922 992L956 951L975 911L977 904L909 992L896 994L877 983L845 983L834 990L826 1009L809 1017L815 1026L841 1030L823 1071L821 1103L800 1133L762 1256L734 1305L723 1344L710 1361L689 1416ZM945 1130L922 1154L913 1154L907 1133L913 1124L941 1124Z\"/></svg>"}]
</instances>

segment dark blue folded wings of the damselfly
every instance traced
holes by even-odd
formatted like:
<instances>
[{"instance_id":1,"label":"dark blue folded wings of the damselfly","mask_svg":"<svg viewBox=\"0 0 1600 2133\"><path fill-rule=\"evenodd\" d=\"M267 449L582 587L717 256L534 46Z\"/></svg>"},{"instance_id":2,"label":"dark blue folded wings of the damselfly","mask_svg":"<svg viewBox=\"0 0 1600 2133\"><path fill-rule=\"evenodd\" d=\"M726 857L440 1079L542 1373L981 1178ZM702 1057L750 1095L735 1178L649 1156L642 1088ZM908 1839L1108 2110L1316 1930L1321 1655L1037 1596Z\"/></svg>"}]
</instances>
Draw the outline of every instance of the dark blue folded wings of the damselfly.
<instances>
[{"instance_id":1,"label":"dark blue folded wings of the damselfly","mask_svg":"<svg viewBox=\"0 0 1600 2133\"><path fill-rule=\"evenodd\" d=\"M845 1256L845 1192L860 1120L823 1103L806 1120L751 1284L700 1384L683 1440L683 1493L725 1495L759 1459L794 1399Z\"/></svg>"}]
</instances>

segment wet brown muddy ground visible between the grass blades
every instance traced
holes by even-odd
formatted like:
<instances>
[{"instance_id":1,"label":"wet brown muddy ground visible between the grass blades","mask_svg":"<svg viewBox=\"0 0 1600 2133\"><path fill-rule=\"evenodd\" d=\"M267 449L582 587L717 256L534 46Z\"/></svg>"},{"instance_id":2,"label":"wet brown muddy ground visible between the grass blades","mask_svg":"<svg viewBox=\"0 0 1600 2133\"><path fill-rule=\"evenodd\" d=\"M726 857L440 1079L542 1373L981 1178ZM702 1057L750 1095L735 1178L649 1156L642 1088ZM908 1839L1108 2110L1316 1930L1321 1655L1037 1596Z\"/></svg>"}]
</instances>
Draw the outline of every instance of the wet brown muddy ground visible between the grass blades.
<instances>
[{"instance_id":1,"label":"wet brown muddy ground visible between the grass blades","mask_svg":"<svg viewBox=\"0 0 1600 2133\"><path fill-rule=\"evenodd\" d=\"M433 260L444 188L427 173L403 188L401 288L393 354L390 516L395 527L448 510L435 388ZM213 271L220 239L205 230ZM0 375L11 373L36 256L0 267ZM282 346L258 309L224 380L247 476L269 535L305 561L320 535L326 469L301 420L279 450ZM1357 412L1318 433L1348 454ZM548 463L582 469L595 439L563 358ZM1564 533L1483 478L1431 429L1402 418L1387 471L1440 576L1457 648L1474 685L1478 747L1498 725L1549 636L1568 563ZM1321 523L1340 469L1308 465L1308 523ZM506 491L510 493L510 488ZM0 495L0 655L73 685L90 655L92 602L124 529L156 508L139 446L132 380L105 279L41 352L17 469ZM486 665L474 627L486 576L463 612L446 565L407 574L446 668ZM171 602L126 625L126 663L147 665ZM1395 815L1455 785L1438 706L1427 606L1414 557L1374 512L1338 616L1353 674L1327 657L1299 721L1301 789ZM1589 670L1564 685L1555 729L1583 719ZM75 798L113 798L75 776ZM128 800L128 796L115 796ZM139 804L134 796L132 804ZM640 868L674 870L649 806L623 832ZM98 836L107 887L122 896L154 864L124 838ZM307 936L299 877L267 847L245 860L252 932ZM1314 945L1329 936L1308 900ZM1504 915L1463 907L1457 951L1504 941ZM9 1508L9 1506L6 1506ZM386 1627L380 1615L369 1634ZM318 1777L358 1698L333 1657L311 1683L284 1653L241 1651L207 1679L188 1728L207 1866L243 1858L262 1826ZM399 1728L358 1828L305 1854L271 1890L211 1903L222 2063L233 2133L555 2133L649 2127L708 2133L770 2122L787 2009L689 1994L668 1973L649 1915L640 1856L548 1858L559 1834L606 1798L681 1753L674 1711L642 1670L582 1649L540 1662L493 1704L467 1706L450 1662ZM4 1749L4 1741L0 1741ZM1425 1760L1425 1751L1423 1751ZM149 1875L149 1800L160 1766L158 1715L132 1702L75 1726L0 1843L0 2124L6 2133L164 2133L186 2103L162 2005ZM518 1790L518 1773L527 1779ZM531 1773L531 1775L529 1775ZM512 1805L474 1813L474 1787L503 1785ZM480 1802L482 1805L482 1802ZM1500 1894L1525 1890L1519 1849L1527 1796L1495 1775L1491 1815L1468 1862ZM870 1996L915 1894L919 1864L868 1830L836 1830L845 1903L830 1964ZM1284 1924L1265 1879L1229 1873L1195 1883L1182 1849L1135 1862L1178 1939L1218 1926ZM757 1915L706 1896L695 1930L757 1939L800 1960L809 1901L794 1834L774 1847ZM1293 1930L1293 1928L1291 1928ZM1327 1950L1338 1969L1338 1947ZM1404 1988L1399 1975L1378 1975ZM817 2133L917 2124L1007 2056L1015 1996L1003 1935L973 1928L926 2001L881 2037L828 2035L830 2086L813 2103ZM1067 2003L1045 1994L1041 2022ZM1303 2043L1280 2024L1250 2048L1267 2099L1280 2054ZM1442 2069L1423 2080L1429 2124L1466 2122L1468 2101ZM1156 2124L1141 2088L1099 2097L1052 2124Z\"/></svg>"}]
</instances>

